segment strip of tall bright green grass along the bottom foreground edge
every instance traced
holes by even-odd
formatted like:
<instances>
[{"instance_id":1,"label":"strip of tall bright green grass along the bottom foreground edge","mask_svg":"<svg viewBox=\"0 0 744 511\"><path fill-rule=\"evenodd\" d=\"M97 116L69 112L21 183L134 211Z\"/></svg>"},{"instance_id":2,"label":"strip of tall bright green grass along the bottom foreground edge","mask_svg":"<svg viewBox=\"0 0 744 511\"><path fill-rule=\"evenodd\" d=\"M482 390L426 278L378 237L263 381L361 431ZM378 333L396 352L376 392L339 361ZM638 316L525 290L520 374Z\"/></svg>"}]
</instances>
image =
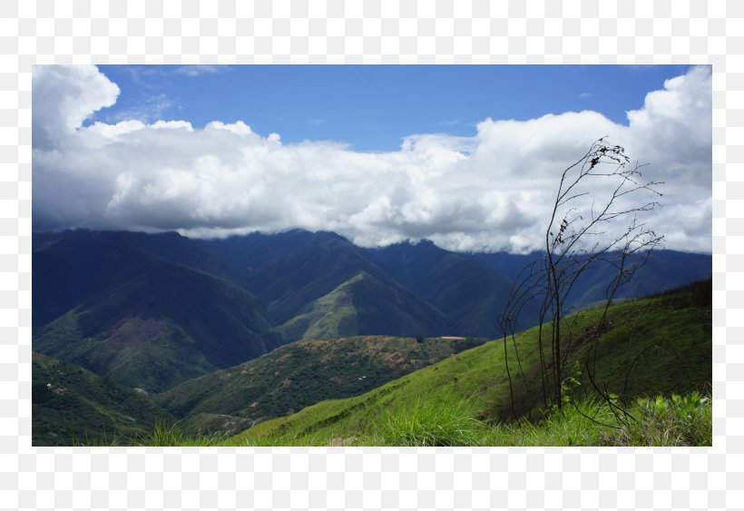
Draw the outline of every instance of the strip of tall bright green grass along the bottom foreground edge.
<instances>
[{"instance_id":1,"label":"strip of tall bright green grass along the bottom foreground edge","mask_svg":"<svg viewBox=\"0 0 744 511\"><path fill-rule=\"evenodd\" d=\"M637 398L625 414L613 412L609 403L595 398L572 402L534 421L488 424L477 418L471 399L451 400L430 408L422 400L411 407L396 406L368 425L363 432L302 433L289 430L269 436L187 436L179 425L157 421L152 432L133 438L144 447L284 447L284 446L396 446L396 447L498 447L498 446L603 446L679 447L712 445L710 395L699 392L680 396ZM354 433L353 435L351 433ZM119 445L115 438L90 445Z\"/></svg>"}]
</instances>

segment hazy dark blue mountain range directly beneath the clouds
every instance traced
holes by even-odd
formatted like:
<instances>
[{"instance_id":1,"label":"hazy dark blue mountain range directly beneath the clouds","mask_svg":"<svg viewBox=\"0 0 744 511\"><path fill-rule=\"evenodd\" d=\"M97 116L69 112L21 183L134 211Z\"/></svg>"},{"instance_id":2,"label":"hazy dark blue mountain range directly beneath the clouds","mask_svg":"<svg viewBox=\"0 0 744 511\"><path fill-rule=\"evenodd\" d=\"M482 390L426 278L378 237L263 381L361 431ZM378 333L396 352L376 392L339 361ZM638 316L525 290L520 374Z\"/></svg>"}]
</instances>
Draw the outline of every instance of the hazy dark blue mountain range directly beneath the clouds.
<instances>
[{"instance_id":1,"label":"hazy dark blue mountain range directly beneath the clouds","mask_svg":"<svg viewBox=\"0 0 744 511\"><path fill-rule=\"evenodd\" d=\"M34 233L33 347L160 393L299 339L494 338L518 270L538 256L365 249L325 231ZM710 273L708 254L656 251L619 298ZM588 272L570 305L601 300L606 284Z\"/></svg>"}]
</instances>

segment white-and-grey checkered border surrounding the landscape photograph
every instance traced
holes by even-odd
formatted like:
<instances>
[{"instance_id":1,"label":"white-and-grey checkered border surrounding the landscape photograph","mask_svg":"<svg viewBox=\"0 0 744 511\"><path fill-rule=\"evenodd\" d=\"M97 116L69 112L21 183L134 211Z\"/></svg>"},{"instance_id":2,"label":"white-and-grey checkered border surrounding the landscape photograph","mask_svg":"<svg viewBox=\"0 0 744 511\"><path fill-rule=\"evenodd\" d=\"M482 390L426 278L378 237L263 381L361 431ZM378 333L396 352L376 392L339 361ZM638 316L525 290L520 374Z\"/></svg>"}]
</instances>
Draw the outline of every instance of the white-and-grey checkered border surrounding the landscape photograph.
<instances>
[{"instance_id":1,"label":"white-and-grey checkered border surrounding the landscape photograph","mask_svg":"<svg viewBox=\"0 0 744 511\"><path fill-rule=\"evenodd\" d=\"M0 508L734 509L744 3L0 3ZM33 64L713 64L712 448L31 447Z\"/></svg>"}]
</instances>

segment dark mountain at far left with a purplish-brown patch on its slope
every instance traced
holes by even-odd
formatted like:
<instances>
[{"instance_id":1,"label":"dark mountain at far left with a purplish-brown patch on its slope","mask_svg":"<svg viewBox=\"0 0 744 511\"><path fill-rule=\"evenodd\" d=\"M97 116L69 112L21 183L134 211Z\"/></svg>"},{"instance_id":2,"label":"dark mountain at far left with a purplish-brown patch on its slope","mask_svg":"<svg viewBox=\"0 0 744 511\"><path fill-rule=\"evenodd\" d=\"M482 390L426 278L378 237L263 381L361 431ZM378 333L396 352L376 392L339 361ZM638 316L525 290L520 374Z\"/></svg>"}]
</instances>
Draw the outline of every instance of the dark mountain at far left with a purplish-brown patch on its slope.
<instances>
[{"instance_id":1,"label":"dark mountain at far left with a purplish-brown patch on its slope","mask_svg":"<svg viewBox=\"0 0 744 511\"><path fill-rule=\"evenodd\" d=\"M60 248L39 251L53 259L41 273L56 276L40 302L46 313L69 309L34 329L40 352L158 392L283 342L259 301L230 280L121 241L64 247L56 259L51 251Z\"/></svg>"}]
</instances>

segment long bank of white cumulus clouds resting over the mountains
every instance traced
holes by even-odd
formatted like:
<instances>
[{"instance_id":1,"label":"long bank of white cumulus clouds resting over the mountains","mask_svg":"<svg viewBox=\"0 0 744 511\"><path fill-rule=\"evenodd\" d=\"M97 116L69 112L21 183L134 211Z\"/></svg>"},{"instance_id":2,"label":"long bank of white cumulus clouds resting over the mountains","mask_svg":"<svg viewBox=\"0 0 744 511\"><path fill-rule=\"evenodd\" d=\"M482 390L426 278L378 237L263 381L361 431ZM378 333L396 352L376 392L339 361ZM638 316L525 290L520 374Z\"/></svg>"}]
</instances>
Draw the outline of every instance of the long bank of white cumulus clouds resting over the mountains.
<instances>
[{"instance_id":1,"label":"long bank of white cumulus clouds resting over the mountains","mask_svg":"<svg viewBox=\"0 0 744 511\"><path fill-rule=\"evenodd\" d=\"M710 251L710 67L651 92L628 125L601 113L485 119L472 137L412 134L398 151L285 144L250 121L83 121L119 88L94 66L34 68L34 229L293 228L364 246L430 239L457 251L539 249L560 173L609 136L664 185L647 219L670 248ZM601 189L592 192L601 193Z\"/></svg>"}]
</instances>

